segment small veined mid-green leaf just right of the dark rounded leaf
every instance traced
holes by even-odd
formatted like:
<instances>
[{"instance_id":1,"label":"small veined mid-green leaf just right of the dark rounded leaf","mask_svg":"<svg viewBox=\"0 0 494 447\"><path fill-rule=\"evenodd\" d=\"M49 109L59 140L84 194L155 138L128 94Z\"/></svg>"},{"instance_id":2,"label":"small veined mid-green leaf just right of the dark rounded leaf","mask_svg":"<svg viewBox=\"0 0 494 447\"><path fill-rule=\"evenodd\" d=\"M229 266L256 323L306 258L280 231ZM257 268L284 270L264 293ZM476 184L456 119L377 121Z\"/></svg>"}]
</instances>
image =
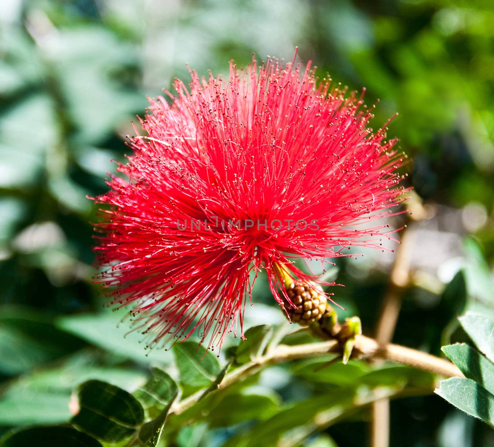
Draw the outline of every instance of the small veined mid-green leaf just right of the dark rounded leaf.
<instances>
[{"instance_id":1,"label":"small veined mid-green leaf just right of the dark rounded leaf","mask_svg":"<svg viewBox=\"0 0 494 447\"><path fill-rule=\"evenodd\" d=\"M141 402L149 418L156 418L178 394L175 381L159 368L153 368L151 378L133 396Z\"/></svg>"}]
</instances>

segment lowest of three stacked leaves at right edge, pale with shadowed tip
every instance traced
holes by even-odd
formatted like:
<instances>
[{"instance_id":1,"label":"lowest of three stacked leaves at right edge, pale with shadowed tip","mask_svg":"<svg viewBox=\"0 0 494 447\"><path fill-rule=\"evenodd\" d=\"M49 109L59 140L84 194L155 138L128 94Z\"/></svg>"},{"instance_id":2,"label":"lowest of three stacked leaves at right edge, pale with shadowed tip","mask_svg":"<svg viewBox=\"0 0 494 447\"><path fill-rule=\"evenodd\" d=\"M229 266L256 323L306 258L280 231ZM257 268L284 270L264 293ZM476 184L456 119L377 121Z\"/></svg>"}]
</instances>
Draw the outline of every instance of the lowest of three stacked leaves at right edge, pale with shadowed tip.
<instances>
[{"instance_id":1,"label":"lowest of three stacked leaves at right edge, pale with shadowed tip","mask_svg":"<svg viewBox=\"0 0 494 447\"><path fill-rule=\"evenodd\" d=\"M434 392L494 428L494 395L472 379L452 377L441 380L439 389Z\"/></svg>"}]
</instances>

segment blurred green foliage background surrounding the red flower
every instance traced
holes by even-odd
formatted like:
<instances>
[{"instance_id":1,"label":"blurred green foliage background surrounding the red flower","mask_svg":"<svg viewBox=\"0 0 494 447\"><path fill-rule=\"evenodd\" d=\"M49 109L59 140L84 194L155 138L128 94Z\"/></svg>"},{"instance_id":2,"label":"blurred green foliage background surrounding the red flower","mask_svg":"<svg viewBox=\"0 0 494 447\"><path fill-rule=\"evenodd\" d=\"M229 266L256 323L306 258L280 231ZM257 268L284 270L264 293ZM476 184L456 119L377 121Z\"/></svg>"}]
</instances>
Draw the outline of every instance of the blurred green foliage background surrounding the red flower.
<instances>
[{"instance_id":1,"label":"blurred green foliage background surrounding the red flower","mask_svg":"<svg viewBox=\"0 0 494 447\"><path fill-rule=\"evenodd\" d=\"M85 197L106 190L110 159L129 152L124 136L146 95L186 81L186 63L227 74L230 59L291 60L298 46L321 78L367 87L369 105L379 99L375 128L399 112L388 135L413 160L404 172L427 216L411 225L413 285L394 341L439 355L461 337L453 321L465 306L494 315L492 1L4 0L0 20L0 434L68 420L68 396L87 378L133 390L150 364L171 363L164 351L146 357L103 308L91 284L96 207ZM345 285L336 300L367 334L391 263L366 252L334 270ZM458 271L466 304L442 295ZM283 320L262 278L254 302L246 327ZM277 367L257 386L285 405L320 385ZM368 417L328 433L339 446L366 445ZM219 425L177 444L220 446L236 429ZM493 446L494 436L437 396L414 397L392 403L391 445Z\"/></svg>"}]
</instances>

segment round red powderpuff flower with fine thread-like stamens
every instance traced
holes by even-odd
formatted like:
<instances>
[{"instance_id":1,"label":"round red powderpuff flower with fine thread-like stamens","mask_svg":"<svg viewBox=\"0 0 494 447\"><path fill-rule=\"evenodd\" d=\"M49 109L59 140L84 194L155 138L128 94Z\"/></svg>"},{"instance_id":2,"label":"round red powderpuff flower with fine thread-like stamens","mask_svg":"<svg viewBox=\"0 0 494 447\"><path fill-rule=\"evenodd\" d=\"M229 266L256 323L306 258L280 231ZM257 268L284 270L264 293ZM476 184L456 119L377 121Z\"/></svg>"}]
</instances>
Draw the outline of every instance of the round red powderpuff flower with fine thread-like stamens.
<instances>
[{"instance_id":1,"label":"round red powderpuff flower with fine thread-like stamens","mask_svg":"<svg viewBox=\"0 0 494 447\"><path fill-rule=\"evenodd\" d=\"M382 248L389 225L366 223L401 200L403 154L367 127L362 97L318 86L310 63L254 60L240 73L231 63L228 80L191 76L189 88L176 80L176 94L166 92L170 102L150 100L145 135L130 139L134 154L117 169L128 180L112 176L96 199L111 205L96 224L106 268L97 281L112 304L132 306L149 346L199 328L214 349L239 322L243 337L261 269L290 306L284 275L312 278L295 259Z\"/></svg>"}]
</instances>

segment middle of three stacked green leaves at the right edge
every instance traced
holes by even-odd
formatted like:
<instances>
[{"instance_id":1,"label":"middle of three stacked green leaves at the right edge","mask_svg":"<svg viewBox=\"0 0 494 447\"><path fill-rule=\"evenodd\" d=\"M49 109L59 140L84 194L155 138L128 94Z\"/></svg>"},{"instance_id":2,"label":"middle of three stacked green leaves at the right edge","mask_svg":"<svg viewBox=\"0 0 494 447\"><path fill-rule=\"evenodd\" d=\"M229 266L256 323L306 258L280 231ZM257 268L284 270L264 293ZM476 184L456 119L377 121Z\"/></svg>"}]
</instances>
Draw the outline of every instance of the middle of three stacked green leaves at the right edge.
<instances>
[{"instance_id":1,"label":"middle of three stacked green leaves at the right edge","mask_svg":"<svg viewBox=\"0 0 494 447\"><path fill-rule=\"evenodd\" d=\"M443 352L465 374L494 394L494 364L479 351L465 343L442 347Z\"/></svg>"}]
</instances>

